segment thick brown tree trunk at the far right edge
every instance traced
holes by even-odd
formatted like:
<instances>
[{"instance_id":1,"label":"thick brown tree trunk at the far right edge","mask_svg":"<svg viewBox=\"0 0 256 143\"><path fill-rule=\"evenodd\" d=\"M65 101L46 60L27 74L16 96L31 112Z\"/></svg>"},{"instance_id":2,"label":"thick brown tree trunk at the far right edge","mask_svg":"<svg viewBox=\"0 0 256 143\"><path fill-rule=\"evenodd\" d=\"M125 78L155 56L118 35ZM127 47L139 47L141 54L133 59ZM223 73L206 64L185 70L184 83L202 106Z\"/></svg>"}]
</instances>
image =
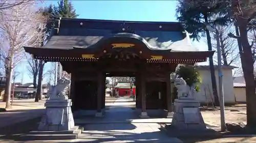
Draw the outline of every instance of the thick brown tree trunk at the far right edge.
<instances>
[{"instance_id":1,"label":"thick brown tree trunk at the far right edge","mask_svg":"<svg viewBox=\"0 0 256 143\"><path fill-rule=\"evenodd\" d=\"M253 55L251 46L248 41L247 35L247 19L239 19L239 32L240 41L243 47L243 59L241 59L244 79L246 83L246 114L247 114L247 126L256 127L256 94L255 94L255 81L253 75Z\"/></svg>"}]
</instances>

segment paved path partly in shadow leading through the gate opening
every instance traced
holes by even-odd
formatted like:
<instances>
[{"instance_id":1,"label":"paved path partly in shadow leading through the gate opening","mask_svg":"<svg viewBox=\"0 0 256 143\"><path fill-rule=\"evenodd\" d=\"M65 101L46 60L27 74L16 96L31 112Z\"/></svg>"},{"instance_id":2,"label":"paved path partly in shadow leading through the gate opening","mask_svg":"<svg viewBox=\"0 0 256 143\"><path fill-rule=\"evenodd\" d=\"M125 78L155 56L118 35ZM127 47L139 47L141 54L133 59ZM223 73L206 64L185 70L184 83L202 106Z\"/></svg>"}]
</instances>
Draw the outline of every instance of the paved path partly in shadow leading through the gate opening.
<instances>
[{"instance_id":1,"label":"paved path partly in shadow leading through the gate opening","mask_svg":"<svg viewBox=\"0 0 256 143\"><path fill-rule=\"evenodd\" d=\"M135 102L131 98L119 98L106 110L101 119L91 119L84 126L81 142L182 142L168 137L159 130L160 126L152 119L138 119L132 110ZM133 120L137 120L133 121ZM139 122L142 120L142 122ZM146 122L150 120L150 122Z\"/></svg>"}]
</instances>

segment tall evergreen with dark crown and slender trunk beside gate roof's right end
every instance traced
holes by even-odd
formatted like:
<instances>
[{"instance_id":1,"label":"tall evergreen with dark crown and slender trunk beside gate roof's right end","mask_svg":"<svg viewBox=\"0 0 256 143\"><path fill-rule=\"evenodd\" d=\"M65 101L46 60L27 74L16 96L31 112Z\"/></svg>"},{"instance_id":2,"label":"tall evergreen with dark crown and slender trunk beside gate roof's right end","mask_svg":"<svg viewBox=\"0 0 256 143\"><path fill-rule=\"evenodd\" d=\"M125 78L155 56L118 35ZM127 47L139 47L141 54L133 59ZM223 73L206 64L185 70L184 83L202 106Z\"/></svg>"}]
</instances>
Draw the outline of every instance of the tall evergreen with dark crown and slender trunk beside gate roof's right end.
<instances>
[{"instance_id":1,"label":"tall evergreen with dark crown and slender trunk beside gate roof's right end","mask_svg":"<svg viewBox=\"0 0 256 143\"><path fill-rule=\"evenodd\" d=\"M226 14L226 6L223 5L223 1L191 1L191 0L179 0L177 6L176 17L178 21L185 24L185 29L190 33L190 38L199 41L201 37L207 38L208 50L212 50L210 33L206 29L206 24L209 25L225 25L228 21L228 16L219 17L213 19L216 14L222 16ZM205 35L206 34L206 35ZM220 105L217 83L215 77L214 61L212 56L209 58L212 92L215 98L215 105Z\"/></svg>"}]
</instances>

